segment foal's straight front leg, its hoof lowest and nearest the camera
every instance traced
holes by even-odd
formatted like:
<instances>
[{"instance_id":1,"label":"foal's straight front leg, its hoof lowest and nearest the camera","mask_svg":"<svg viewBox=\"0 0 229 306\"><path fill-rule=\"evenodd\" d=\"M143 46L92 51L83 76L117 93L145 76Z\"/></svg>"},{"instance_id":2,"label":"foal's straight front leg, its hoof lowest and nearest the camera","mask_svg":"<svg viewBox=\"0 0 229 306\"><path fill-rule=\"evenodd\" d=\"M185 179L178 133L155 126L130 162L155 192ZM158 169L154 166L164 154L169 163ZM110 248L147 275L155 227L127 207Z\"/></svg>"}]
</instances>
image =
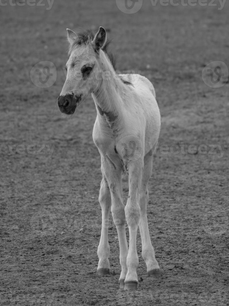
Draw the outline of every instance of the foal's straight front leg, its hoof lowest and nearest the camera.
<instances>
[{"instance_id":1,"label":"foal's straight front leg, its hoof lowest and nearest the camera","mask_svg":"<svg viewBox=\"0 0 229 306\"><path fill-rule=\"evenodd\" d=\"M140 220L140 206L138 192L142 178L143 161L140 159L128 166L129 170L129 196L125 207L126 222L129 228L129 252L126 258L127 274L124 289L137 289L138 255L136 248L137 229Z\"/></svg>"}]
</instances>

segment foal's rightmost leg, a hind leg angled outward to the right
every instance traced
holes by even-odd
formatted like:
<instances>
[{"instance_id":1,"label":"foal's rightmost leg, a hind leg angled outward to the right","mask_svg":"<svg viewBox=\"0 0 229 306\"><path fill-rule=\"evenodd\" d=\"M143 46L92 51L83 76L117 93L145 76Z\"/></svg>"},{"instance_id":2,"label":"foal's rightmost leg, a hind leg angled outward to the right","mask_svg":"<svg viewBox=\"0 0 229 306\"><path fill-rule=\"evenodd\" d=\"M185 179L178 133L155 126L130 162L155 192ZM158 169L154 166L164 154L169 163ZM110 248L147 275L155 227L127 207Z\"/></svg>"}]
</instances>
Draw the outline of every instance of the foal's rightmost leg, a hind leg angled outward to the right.
<instances>
[{"instance_id":1,"label":"foal's rightmost leg, a hind leg angled outward to the right","mask_svg":"<svg viewBox=\"0 0 229 306\"><path fill-rule=\"evenodd\" d=\"M141 187L140 187L140 222L139 230L141 233L142 257L147 266L147 273L149 275L160 275L160 268L155 259L154 248L151 244L150 233L147 222L146 206L149 201L148 181L152 173L153 155L149 152L144 158L144 168L142 173Z\"/></svg>"}]
</instances>

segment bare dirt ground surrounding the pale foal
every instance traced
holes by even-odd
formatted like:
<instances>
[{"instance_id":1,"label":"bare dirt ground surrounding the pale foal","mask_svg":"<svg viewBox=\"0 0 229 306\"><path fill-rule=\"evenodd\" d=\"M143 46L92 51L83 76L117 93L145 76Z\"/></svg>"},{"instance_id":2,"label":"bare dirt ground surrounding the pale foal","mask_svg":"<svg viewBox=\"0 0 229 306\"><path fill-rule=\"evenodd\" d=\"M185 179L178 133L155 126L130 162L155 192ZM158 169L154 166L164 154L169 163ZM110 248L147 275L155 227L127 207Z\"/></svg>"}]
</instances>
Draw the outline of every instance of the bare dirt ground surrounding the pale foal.
<instances>
[{"instance_id":1,"label":"bare dirt ground surrounding the pale foal","mask_svg":"<svg viewBox=\"0 0 229 306\"><path fill-rule=\"evenodd\" d=\"M4 3L0 305L229 305L229 3L218 10L143 1L135 14L114 0L55 0L50 9L47 1ZM161 111L148 220L162 276L147 276L138 233L135 292L119 289L112 220L111 274L96 274L101 173L92 98L70 117L56 105L66 28L99 26L113 38L117 69L148 77ZM53 75L38 84L43 61L53 63L46 71ZM215 61L225 63L217 65L219 88L204 82L211 77L204 67ZM124 182L125 199L127 193Z\"/></svg>"}]
</instances>

